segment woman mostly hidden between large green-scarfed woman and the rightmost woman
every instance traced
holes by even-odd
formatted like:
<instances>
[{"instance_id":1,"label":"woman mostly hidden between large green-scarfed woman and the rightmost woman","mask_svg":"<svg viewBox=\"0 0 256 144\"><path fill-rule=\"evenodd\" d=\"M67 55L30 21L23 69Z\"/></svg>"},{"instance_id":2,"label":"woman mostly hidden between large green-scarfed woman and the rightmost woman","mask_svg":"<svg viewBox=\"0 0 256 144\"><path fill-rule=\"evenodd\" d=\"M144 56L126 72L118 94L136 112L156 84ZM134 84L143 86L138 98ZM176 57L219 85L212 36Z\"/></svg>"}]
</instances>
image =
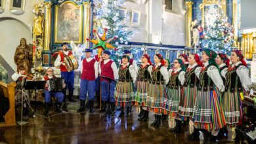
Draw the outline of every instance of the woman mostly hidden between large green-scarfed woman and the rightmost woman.
<instances>
[{"instance_id":1,"label":"woman mostly hidden between large green-scarfed woman and the rightmost woman","mask_svg":"<svg viewBox=\"0 0 256 144\"><path fill-rule=\"evenodd\" d=\"M225 84L226 72L227 72L228 67L230 65L229 64L230 60L228 59L226 54L223 54L223 53L217 54L217 58L215 60L216 60L216 63L219 65L219 69L221 71L221 79L223 79L223 83ZM222 101L223 101L223 96L224 96L224 93L221 94L221 97L220 97ZM217 136L217 139L221 139L221 137L226 136L227 133L228 133L228 130L226 129L226 126L224 126L223 128L221 128L221 130L219 130L219 134Z\"/></svg>"}]
</instances>

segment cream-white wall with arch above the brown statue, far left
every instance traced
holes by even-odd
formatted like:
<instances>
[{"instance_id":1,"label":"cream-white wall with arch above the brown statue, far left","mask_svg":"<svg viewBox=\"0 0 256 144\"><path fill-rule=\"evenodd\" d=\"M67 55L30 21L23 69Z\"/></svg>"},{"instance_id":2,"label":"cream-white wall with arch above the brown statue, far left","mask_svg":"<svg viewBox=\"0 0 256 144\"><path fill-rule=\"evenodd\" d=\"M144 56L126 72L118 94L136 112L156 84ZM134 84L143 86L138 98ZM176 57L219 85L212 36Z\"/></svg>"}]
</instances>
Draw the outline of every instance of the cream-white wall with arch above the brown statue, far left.
<instances>
[{"instance_id":1,"label":"cream-white wall with arch above the brown statue, far left","mask_svg":"<svg viewBox=\"0 0 256 144\"><path fill-rule=\"evenodd\" d=\"M16 65L13 56L20 38L24 37L27 43L32 43L34 17L32 11L35 3L39 3L39 0L26 0L24 14L15 15L9 10L10 1L6 0L5 11L0 14L0 54L14 71L16 71Z\"/></svg>"}]
</instances>

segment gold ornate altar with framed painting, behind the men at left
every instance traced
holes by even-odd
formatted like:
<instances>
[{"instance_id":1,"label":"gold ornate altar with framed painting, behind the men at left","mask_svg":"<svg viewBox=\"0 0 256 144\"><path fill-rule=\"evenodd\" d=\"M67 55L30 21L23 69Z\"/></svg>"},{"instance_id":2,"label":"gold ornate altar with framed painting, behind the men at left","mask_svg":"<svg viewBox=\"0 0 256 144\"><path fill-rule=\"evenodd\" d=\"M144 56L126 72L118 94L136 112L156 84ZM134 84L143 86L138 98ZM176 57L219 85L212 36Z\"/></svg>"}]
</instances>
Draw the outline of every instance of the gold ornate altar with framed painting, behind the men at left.
<instances>
[{"instance_id":1,"label":"gold ornate altar with framed painting, behind the men at left","mask_svg":"<svg viewBox=\"0 0 256 144\"><path fill-rule=\"evenodd\" d=\"M90 36L92 11L88 0L45 0L35 5L33 13L33 60L41 61L41 65L51 66L51 54L63 42L89 46L86 38Z\"/></svg>"}]
</instances>

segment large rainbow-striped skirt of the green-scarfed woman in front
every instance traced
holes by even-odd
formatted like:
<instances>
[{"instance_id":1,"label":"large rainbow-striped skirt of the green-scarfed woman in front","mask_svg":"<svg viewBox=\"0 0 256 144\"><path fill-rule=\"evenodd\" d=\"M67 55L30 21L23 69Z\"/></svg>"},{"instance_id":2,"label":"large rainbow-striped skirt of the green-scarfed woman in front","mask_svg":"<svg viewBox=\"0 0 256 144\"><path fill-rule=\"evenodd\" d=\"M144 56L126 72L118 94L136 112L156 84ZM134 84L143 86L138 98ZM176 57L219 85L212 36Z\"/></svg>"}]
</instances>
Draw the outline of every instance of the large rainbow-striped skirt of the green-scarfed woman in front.
<instances>
[{"instance_id":1,"label":"large rainbow-striped skirt of the green-scarfed woman in front","mask_svg":"<svg viewBox=\"0 0 256 144\"><path fill-rule=\"evenodd\" d=\"M223 104L219 98L219 90L215 86L213 91L198 91L193 118L199 129L219 130L226 125Z\"/></svg>"}]
</instances>

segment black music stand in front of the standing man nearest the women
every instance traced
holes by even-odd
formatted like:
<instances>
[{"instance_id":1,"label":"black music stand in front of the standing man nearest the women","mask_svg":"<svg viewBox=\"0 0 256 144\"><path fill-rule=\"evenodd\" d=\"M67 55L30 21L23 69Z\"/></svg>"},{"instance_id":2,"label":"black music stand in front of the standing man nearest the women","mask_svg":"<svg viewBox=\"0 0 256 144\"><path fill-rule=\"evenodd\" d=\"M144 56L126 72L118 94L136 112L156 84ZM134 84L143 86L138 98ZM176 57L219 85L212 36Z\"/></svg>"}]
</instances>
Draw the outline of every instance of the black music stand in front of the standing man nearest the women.
<instances>
[{"instance_id":1,"label":"black music stand in front of the standing man nearest the women","mask_svg":"<svg viewBox=\"0 0 256 144\"><path fill-rule=\"evenodd\" d=\"M104 117L107 117L108 120L110 120L111 117L116 117L116 113L114 113L114 111L112 111L110 109L110 82L112 82L112 81L116 82L116 80L111 79L110 77L102 76L102 75L98 75L98 77L100 77L102 79L106 79L109 82L109 86L108 86L108 110L106 111ZM112 115L111 117L110 117L110 114ZM119 117L116 117L116 118L118 119L117 122L119 122L120 118Z\"/></svg>"}]
</instances>

